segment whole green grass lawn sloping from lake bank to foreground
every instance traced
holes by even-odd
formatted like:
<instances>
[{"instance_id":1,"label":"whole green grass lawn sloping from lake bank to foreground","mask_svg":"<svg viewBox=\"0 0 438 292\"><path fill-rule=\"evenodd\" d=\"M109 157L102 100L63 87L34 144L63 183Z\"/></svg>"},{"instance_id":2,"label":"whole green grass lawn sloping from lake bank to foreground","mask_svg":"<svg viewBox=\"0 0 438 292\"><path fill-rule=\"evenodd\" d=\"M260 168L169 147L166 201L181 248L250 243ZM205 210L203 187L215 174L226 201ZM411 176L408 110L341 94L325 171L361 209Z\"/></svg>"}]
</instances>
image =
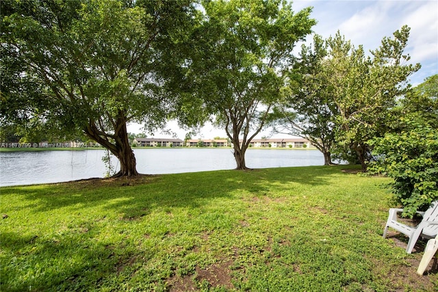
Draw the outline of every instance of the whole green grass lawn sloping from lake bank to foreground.
<instances>
[{"instance_id":1,"label":"whole green grass lawn sloping from lake bank to foreground","mask_svg":"<svg viewBox=\"0 0 438 292\"><path fill-rule=\"evenodd\" d=\"M346 166L2 187L1 291L437 291Z\"/></svg>"}]
</instances>

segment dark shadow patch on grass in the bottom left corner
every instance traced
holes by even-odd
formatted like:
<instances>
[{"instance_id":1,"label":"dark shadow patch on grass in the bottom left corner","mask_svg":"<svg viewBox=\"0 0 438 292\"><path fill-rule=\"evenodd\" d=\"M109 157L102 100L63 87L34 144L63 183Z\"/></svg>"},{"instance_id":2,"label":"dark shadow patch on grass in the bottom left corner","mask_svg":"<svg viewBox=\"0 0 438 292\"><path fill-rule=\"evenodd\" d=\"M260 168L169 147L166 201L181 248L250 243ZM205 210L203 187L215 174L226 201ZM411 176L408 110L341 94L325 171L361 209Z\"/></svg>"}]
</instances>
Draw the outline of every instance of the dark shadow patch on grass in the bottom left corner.
<instances>
[{"instance_id":1,"label":"dark shadow patch on grass in the bottom left corner","mask_svg":"<svg viewBox=\"0 0 438 292\"><path fill-rule=\"evenodd\" d=\"M87 291L113 274L121 258L104 243L89 245L80 234L58 239L1 233L4 254L0 284L4 291Z\"/></svg>"}]
</instances>

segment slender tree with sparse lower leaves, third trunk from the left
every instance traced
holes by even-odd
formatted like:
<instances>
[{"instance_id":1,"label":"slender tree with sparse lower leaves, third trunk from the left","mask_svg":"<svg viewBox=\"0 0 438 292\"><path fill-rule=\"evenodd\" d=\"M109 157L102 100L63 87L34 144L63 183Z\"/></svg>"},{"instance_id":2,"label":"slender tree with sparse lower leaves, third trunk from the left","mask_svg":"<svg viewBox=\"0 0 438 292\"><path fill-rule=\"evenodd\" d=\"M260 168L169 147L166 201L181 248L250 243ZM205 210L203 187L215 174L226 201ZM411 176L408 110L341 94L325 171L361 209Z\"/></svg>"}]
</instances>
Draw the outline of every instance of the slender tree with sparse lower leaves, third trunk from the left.
<instances>
[{"instance_id":1,"label":"slender tree with sparse lower leaves, third trunk from the left","mask_svg":"<svg viewBox=\"0 0 438 292\"><path fill-rule=\"evenodd\" d=\"M270 126L274 133L309 140L324 155L324 164L331 165L337 108L331 100L330 88L324 85L326 55L326 43L318 35L313 37L310 47L302 45L300 59L289 74L289 91L270 115Z\"/></svg>"}]
</instances>

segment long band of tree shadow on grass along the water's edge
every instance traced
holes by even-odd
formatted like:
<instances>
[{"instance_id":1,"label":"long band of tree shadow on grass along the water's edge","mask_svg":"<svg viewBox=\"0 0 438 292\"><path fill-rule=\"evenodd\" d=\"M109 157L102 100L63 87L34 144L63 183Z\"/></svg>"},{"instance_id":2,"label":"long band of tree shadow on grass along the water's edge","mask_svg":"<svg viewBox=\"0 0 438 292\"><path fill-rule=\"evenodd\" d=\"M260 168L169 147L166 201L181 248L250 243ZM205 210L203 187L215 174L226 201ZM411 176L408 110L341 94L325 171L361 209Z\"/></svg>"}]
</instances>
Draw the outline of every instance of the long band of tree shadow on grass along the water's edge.
<instances>
[{"instance_id":1,"label":"long band of tree shadow on grass along the water's edge","mask_svg":"<svg viewBox=\"0 0 438 292\"><path fill-rule=\"evenodd\" d=\"M3 196L23 197L26 203L22 208L35 212L75 206L76 210L104 207L118 213L124 213L127 209L144 213L164 207L198 208L209 199L227 198L239 191L266 194L268 190L284 190L291 182L307 187L326 185L331 183L329 176L341 174L339 168L333 167L284 170L198 172L134 179L92 178L36 188L5 187L1 193ZM7 213L8 210L4 209L3 212Z\"/></svg>"}]
</instances>

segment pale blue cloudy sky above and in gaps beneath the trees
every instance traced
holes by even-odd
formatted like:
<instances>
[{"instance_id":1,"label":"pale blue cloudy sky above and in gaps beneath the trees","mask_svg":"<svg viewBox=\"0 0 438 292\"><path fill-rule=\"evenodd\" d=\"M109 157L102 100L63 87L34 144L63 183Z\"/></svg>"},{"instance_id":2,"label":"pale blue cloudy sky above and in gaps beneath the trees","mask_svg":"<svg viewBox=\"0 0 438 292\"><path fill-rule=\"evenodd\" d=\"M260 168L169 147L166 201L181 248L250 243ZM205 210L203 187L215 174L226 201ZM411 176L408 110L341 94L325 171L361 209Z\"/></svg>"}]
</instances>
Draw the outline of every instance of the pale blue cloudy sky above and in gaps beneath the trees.
<instances>
[{"instance_id":1,"label":"pale blue cloudy sky above and in gaps beneath the trees","mask_svg":"<svg viewBox=\"0 0 438 292\"><path fill-rule=\"evenodd\" d=\"M318 22L313 27L313 34L322 38L335 36L339 32L350 40L355 47L363 45L363 49L378 49L384 37L392 38L394 31L403 25L411 27L411 34L405 53L411 57L409 63L420 63L422 68L409 77L410 83L415 86L426 77L438 74L438 1L331 1L331 0L296 0L292 3L294 12L303 8L313 7L311 18ZM307 36L307 43L313 36ZM177 123L170 121L168 128L175 133L172 137L184 139L188 130L179 129ZM131 133L140 133L141 126L128 126ZM151 137L150 134L147 134ZM213 139L226 137L222 129L216 129L207 123L205 127L192 136L194 139ZM262 131L258 138L270 137L270 129ZM171 137L165 133L155 133L153 137ZM272 137L290 137L274 135Z\"/></svg>"}]
</instances>

